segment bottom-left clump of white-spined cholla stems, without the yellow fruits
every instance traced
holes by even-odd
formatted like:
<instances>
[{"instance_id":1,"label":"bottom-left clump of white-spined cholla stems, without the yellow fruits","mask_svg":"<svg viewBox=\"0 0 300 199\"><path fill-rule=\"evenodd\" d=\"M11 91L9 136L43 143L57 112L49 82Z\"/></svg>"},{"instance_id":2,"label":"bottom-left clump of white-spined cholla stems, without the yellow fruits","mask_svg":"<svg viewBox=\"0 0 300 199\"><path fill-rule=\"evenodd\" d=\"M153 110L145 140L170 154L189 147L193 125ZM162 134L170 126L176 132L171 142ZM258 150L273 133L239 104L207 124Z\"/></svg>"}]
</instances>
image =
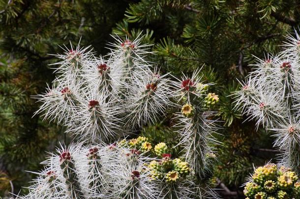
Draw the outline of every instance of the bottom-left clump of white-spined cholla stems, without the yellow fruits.
<instances>
[{"instance_id":1,"label":"bottom-left clump of white-spined cholla stems, without the yellow fruits","mask_svg":"<svg viewBox=\"0 0 300 199\"><path fill-rule=\"evenodd\" d=\"M145 169L148 158L116 145L84 147L72 144L58 149L43 162L30 194L34 199L151 198L159 189Z\"/></svg>"}]
</instances>

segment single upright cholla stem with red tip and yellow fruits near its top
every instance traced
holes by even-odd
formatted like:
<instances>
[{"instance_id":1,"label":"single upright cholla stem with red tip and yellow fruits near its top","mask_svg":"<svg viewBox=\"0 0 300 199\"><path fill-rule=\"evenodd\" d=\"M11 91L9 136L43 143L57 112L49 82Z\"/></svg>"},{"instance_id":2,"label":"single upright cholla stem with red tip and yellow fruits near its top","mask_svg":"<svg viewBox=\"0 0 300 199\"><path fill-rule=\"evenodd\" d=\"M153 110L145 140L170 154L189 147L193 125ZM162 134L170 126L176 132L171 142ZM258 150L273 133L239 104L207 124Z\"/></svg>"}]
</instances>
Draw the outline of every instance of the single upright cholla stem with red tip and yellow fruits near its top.
<instances>
[{"instance_id":1,"label":"single upright cholla stem with red tip and yellow fruits near its top","mask_svg":"<svg viewBox=\"0 0 300 199\"><path fill-rule=\"evenodd\" d=\"M218 102L218 96L207 93L209 84L200 83L199 71L195 71L191 78L183 76L181 83L177 83L178 102L182 106L181 112L176 114L174 125L180 135L180 143L184 147L184 157L198 176L206 171L211 162L213 145L217 144L213 134L218 129L212 120L213 105Z\"/></svg>"}]
</instances>

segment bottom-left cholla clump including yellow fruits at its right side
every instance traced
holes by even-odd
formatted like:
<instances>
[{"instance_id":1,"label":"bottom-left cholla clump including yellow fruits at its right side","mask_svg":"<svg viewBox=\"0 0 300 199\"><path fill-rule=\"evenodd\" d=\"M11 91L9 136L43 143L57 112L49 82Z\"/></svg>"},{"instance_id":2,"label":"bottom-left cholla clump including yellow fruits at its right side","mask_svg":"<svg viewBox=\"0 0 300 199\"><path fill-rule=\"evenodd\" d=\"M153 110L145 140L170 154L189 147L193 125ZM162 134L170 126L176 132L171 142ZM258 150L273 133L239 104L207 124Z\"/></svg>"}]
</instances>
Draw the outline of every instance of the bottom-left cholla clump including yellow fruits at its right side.
<instances>
[{"instance_id":1,"label":"bottom-left cholla clump including yellow fruits at its right side","mask_svg":"<svg viewBox=\"0 0 300 199\"><path fill-rule=\"evenodd\" d=\"M61 147L42 163L45 170L37 173L30 193L19 198L192 199L208 193L198 191L188 163L172 160L171 154L163 154L161 161L149 158L126 147L132 140Z\"/></svg>"}]
</instances>

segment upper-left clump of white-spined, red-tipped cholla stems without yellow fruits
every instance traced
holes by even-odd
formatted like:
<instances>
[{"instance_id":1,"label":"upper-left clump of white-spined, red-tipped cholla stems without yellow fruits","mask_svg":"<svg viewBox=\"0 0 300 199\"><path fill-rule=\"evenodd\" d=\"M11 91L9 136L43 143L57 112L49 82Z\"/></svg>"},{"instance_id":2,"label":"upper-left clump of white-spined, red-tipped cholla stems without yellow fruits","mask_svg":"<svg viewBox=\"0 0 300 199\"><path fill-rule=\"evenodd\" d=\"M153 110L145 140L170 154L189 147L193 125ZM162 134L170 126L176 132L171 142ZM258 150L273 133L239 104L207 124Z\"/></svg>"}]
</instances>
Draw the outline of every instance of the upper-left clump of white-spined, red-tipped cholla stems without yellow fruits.
<instances>
[{"instance_id":1,"label":"upper-left clump of white-spined, red-tipped cholla stems without yellow fruits","mask_svg":"<svg viewBox=\"0 0 300 199\"><path fill-rule=\"evenodd\" d=\"M36 96L42 102L36 114L57 120L85 142L110 141L138 125L153 122L171 106L172 89L166 75L150 69L146 46L126 40L114 44L106 60L89 48L57 55L53 89Z\"/></svg>"}]
</instances>

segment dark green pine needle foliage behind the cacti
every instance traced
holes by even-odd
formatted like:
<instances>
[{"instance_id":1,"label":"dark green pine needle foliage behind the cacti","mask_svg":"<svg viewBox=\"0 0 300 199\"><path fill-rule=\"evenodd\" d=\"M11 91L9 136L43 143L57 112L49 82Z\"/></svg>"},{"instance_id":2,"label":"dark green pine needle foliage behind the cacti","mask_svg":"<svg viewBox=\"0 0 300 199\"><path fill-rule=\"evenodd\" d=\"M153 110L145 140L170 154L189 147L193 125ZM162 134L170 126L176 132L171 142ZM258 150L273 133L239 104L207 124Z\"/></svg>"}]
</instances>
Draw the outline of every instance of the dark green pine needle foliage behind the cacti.
<instances>
[{"instance_id":1,"label":"dark green pine needle foliage behind the cacti","mask_svg":"<svg viewBox=\"0 0 300 199\"><path fill-rule=\"evenodd\" d=\"M245 177L273 158L270 134L255 129L235 109L230 94L253 68L253 57L276 54L287 33L300 23L298 0L0 0L0 196L18 193L33 177L28 172L58 142L69 142L63 129L32 117L38 103L30 96L54 79L48 66L70 40L105 55L111 33L153 44L151 61L180 76L202 67L202 80L215 83L220 97L216 118L222 136L213 169L224 198L242 198ZM176 145L169 117L141 134L151 142ZM180 153L174 149L174 153Z\"/></svg>"}]
</instances>

